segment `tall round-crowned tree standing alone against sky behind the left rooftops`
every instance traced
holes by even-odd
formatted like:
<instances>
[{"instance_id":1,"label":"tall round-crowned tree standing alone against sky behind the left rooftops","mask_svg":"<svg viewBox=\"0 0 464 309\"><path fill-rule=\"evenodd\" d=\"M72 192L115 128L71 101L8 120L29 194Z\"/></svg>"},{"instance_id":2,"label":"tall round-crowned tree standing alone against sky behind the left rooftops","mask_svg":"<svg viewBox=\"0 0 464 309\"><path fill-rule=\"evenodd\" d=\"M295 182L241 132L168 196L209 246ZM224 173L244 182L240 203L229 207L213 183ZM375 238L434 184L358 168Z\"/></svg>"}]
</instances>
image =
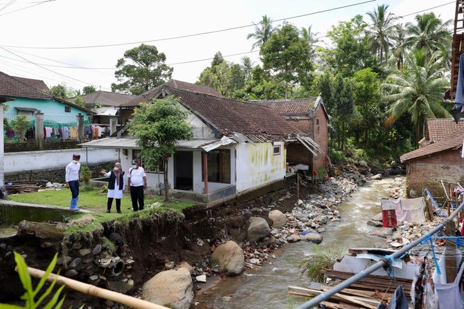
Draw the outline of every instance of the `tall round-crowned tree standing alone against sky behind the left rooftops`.
<instances>
[{"instance_id":1,"label":"tall round-crowned tree standing alone against sky behind the left rooftops","mask_svg":"<svg viewBox=\"0 0 464 309\"><path fill-rule=\"evenodd\" d=\"M120 84L111 84L111 91L140 95L171 78L172 68L165 64L166 55L152 45L126 50L118 59L114 73Z\"/></svg>"}]
</instances>

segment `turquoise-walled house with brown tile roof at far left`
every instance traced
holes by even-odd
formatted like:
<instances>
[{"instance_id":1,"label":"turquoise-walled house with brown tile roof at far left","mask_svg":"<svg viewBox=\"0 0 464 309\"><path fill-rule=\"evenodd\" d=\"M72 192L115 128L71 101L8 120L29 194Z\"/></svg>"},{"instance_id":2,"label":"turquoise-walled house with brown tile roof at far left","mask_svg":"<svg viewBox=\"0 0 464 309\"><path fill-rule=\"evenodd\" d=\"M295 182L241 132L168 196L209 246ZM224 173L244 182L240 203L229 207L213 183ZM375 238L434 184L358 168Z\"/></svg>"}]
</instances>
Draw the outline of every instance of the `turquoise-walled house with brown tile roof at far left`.
<instances>
[{"instance_id":1,"label":"turquoise-walled house with brown tile roof at far left","mask_svg":"<svg viewBox=\"0 0 464 309\"><path fill-rule=\"evenodd\" d=\"M44 92L46 89L48 87L41 80L0 72L0 98L9 100L3 117L12 120L17 115L26 115L32 121L35 113L41 111L44 113L44 124L60 127L75 124L76 116L81 113L84 121L89 123L89 117L93 115L91 110L54 97Z\"/></svg>"}]
</instances>

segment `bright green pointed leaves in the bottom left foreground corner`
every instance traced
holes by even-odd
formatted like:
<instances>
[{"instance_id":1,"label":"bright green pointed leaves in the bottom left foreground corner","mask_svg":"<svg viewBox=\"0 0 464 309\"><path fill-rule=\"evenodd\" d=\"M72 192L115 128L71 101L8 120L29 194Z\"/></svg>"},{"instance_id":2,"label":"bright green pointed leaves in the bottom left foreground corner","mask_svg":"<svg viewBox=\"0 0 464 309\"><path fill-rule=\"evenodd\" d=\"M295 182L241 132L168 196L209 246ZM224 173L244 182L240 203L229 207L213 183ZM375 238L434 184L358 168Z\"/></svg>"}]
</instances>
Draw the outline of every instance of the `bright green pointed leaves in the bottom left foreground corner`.
<instances>
[{"instance_id":1,"label":"bright green pointed leaves in the bottom left foreground corner","mask_svg":"<svg viewBox=\"0 0 464 309\"><path fill-rule=\"evenodd\" d=\"M19 308L27 308L27 309L35 309L35 308L45 308L45 309L60 309L61 306L63 305L64 302L64 297L60 299L60 294L64 288L65 285L62 285L58 290L53 294L53 297L48 301L48 303L45 303L44 300L48 295L51 294L53 291L53 288L55 287L55 283L57 281L57 277L53 279L52 283L50 286L43 292L42 295L39 295L40 290L45 285L45 281L48 278L48 276L51 274L53 269L55 268L56 265L56 260L58 254L55 254L53 257L53 260L51 261L50 265L48 265L48 268L45 271L44 276L40 279L39 283L37 286L34 288L32 279L30 278L30 275L28 274L28 265L26 265L26 261L24 261L24 258L21 256L21 254L14 252L15 254L15 262L17 265L17 272L19 275L19 279L21 280L21 283L24 288L24 294L21 296L21 299L26 302L25 306L15 306L15 305L7 305L7 304L0 304L0 308L5 308L5 309L19 309ZM38 299L36 300L36 297Z\"/></svg>"}]
</instances>

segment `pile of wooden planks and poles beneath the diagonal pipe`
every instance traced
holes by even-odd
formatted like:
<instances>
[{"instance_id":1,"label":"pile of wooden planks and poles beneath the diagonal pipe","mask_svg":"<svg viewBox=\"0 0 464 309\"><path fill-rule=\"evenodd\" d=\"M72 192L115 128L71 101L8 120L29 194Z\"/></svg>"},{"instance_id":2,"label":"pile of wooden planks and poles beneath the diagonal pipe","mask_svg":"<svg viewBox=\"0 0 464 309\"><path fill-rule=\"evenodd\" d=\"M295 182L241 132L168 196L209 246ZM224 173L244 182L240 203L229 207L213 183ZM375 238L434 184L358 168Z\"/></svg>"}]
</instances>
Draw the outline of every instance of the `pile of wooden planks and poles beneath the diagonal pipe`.
<instances>
[{"instance_id":1,"label":"pile of wooden planks and poles beneath the diagonal pipe","mask_svg":"<svg viewBox=\"0 0 464 309\"><path fill-rule=\"evenodd\" d=\"M339 272L337 270L323 270L327 278L331 279L334 285L337 285L346 279L353 277L352 272ZM354 309L368 308L377 309L379 303L390 301L398 285L402 285L404 294L409 297L412 280L396 279L386 276L368 275L364 279L350 285L349 288L341 290L334 294L321 305L330 309ZM330 290L332 286L320 285L318 288L299 288L296 286L288 287L288 294L302 297L316 297L317 295Z\"/></svg>"}]
</instances>

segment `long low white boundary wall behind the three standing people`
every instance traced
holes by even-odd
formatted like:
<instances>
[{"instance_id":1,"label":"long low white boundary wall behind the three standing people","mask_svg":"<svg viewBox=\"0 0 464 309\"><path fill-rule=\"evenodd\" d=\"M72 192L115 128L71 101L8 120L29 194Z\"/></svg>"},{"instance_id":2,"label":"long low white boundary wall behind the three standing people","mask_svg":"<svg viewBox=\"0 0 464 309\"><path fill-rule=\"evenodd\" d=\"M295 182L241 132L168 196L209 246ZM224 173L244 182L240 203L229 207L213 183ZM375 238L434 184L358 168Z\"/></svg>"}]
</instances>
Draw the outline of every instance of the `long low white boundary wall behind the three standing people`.
<instances>
[{"instance_id":1,"label":"long low white boundary wall behind the three standing people","mask_svg":"<svg viewBox=\"0 0 464 309\"><path fill-rule=\"evenodd\" d=\"M3 135L2 135L3 136ZM21 173L37 169L57 169L68 165L73 154L80 155L81 165L93 165L118 160L117 149L62 149L46 151L25 151L5 153L3 169L5 173Z\"/></svg>"}]
</instances>

